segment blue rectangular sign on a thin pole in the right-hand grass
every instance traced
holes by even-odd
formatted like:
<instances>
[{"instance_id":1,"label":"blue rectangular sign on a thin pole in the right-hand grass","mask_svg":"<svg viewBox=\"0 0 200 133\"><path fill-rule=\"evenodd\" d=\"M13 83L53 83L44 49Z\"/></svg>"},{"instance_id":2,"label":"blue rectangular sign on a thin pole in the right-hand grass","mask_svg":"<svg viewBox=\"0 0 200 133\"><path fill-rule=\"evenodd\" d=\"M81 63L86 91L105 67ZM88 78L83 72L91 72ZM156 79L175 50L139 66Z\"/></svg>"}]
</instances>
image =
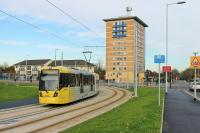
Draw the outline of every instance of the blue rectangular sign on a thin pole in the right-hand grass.
<instances>
[{"instance_id":1,"label":"blue rectangular sign on a thin pole in the right-hand grass","mask_svg":"<svg viewBox=\"0 0 200 133\"><path fill-rule=\"evenodd\" d=\"M155 55L154 63L158 64L158 106L160 106L160 64L165 63L165 56Z\"/></svg>"}]
</instances>

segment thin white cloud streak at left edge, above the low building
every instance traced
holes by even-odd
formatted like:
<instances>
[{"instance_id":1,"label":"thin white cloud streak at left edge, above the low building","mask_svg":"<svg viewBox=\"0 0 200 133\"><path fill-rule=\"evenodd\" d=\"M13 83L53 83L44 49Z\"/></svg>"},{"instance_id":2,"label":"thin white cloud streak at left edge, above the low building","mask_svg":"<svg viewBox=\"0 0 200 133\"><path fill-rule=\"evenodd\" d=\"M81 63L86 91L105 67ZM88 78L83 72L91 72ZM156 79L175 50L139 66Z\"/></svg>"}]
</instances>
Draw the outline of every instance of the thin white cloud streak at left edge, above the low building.
<instances>
[{"instance_id":1,"label":"thin white cloud streak at left edge, above the low building","mask_svg":"<svg viewBox=\"0 0 200 133\"><path fill-rule=\"evenodd\" d=\"M10 45L10 46L28 46L29 42L17 41L17 40L0 40L0 45Z\"/></svg>"}]
</instances>

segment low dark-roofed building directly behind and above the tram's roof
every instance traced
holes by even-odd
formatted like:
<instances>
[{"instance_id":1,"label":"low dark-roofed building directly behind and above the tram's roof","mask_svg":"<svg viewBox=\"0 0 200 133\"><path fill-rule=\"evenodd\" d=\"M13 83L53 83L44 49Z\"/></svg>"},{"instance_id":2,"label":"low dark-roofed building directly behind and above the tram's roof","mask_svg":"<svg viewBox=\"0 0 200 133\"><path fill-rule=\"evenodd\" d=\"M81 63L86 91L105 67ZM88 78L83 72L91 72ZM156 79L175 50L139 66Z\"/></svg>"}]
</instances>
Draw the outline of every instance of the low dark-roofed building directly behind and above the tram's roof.
<instances>
[{"instance_id":1,"label":"low dark-roofed building directly behind and above the tram's roof","mask_svg":"<svg viewBox=\"0 0 200 133\"><path fill-rule=\"evenodd\" d=\"M61 66L62 60L57 60L56 65ZM49 66L55 66L55 61L52 61ZM74 68L82 71L89 71L94 73L95 65L84 60L63 60L63 66Z\"/></svg>"}]
</instances>

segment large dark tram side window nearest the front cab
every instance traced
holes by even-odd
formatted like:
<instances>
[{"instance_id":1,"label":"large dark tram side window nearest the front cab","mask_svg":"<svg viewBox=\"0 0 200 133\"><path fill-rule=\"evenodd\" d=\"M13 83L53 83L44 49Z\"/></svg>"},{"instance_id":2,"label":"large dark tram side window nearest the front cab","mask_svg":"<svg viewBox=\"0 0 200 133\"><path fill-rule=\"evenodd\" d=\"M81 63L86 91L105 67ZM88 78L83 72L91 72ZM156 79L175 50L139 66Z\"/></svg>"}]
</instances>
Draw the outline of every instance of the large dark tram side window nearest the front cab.
<instances>
[{"instance_id":1,"label":"large dark tram side window nearest the front cab","mask_svg":"<svg viewBox=\"0 0 200 133\"><path fill-rule=\"evenodd\" d=\"M74 87L76 86L75 74L64 73L61 74L61 87Z\"/></svg>"}]
</instances>

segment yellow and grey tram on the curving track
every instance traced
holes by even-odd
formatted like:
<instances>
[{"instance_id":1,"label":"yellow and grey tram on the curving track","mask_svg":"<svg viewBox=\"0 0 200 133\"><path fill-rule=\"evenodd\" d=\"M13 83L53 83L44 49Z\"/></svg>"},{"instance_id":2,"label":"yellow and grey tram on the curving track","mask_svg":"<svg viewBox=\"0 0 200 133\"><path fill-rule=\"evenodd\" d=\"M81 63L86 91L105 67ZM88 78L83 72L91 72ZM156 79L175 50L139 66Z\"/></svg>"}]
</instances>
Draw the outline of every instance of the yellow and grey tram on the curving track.
<instances>
[{"instance_id":1,"label":"yellow and grey tram on the curving track","mask_svg":"<svg viewBox=\"0 0 200 133\"><path fill-rule=\"evenodd\" d=\"M65 104L97 93L96 75L63 66L43 67L39 79L40 104Z\"/></svg>"}]
</instances>

